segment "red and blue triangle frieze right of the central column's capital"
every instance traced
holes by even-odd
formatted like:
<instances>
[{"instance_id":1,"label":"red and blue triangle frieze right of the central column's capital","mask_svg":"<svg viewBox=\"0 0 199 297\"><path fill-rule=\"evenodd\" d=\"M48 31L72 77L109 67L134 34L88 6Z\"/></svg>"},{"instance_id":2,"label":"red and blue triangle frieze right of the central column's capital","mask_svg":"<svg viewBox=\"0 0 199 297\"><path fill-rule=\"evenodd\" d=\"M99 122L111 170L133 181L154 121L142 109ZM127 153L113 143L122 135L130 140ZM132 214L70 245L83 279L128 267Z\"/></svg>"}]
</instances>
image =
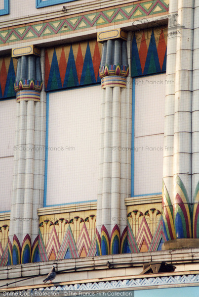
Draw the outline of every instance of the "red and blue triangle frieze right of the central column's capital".
<instances>
[{"instance_id":1,"label":"red and blue triangle frieze right of the central column's capital","mask_svg":"<svg viewBox=\"0 0 199 297\"><path fill-rule=\"evenodd\" d=\"M167 27L133 33L131 76L166 71Z\"/></svg>"}]
</instances>

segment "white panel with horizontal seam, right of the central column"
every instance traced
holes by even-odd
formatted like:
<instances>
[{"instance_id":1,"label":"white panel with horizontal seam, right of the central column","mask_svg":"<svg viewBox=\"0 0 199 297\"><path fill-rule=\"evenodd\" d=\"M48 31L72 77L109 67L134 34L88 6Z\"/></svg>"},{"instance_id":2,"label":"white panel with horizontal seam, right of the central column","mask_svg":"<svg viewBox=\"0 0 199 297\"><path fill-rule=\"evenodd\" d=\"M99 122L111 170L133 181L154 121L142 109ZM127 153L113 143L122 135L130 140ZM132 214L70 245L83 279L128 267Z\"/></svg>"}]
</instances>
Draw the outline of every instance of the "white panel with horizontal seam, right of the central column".
<instances>
[{"instance_id":1,"label":"white panel with horizontal seam, right of the central column","mask_svg":"<svg viewBox=\"0 0 199 297\"><path fill-rule=\"evenodd\" d=\"M161 192L165 78L163 73L135 80L135 196Z\"/></svg>"}]
</instances>

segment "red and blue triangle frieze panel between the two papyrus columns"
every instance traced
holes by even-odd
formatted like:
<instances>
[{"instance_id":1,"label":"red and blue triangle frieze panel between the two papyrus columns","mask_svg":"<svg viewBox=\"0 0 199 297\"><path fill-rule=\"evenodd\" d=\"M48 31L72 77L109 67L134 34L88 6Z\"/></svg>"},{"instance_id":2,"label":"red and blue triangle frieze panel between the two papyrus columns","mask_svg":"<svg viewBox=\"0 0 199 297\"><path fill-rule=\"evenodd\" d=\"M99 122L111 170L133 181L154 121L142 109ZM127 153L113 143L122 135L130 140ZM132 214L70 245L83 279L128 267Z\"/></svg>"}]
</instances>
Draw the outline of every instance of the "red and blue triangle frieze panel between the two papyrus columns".
<instances>
[{"instance_id":1,"label":"red and blue triangle frieze panel between the two papyrus columns","mask_svg":"<svg viewBox=\"0 0 199 297\"><path fill-rule=\"evenodd\" d=\"M45 90L99 83L101 44L96 40L45 51Z\"/></svg>"}]
</instances>

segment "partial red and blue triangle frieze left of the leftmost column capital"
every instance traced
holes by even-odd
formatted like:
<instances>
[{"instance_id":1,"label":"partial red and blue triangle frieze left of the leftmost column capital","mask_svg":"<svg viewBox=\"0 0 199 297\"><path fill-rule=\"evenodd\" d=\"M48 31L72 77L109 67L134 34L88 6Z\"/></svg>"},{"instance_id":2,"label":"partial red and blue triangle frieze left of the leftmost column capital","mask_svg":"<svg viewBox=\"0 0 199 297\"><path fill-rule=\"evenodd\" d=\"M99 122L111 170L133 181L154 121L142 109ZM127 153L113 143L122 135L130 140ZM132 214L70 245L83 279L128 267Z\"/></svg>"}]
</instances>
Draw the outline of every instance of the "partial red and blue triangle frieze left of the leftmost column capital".
<instances>
[{"instance_id":1,"label":"partial red and blue triangle frieze left of the leftmost column capital","mask_svg":"<svg viewBox=\"0 0 199 297\"><path fill-rule=\"evenodd\" d=\"M0 58L0 99L16 97L14 91L17 60L11 57Z\"/></svg>"}]
</instances>

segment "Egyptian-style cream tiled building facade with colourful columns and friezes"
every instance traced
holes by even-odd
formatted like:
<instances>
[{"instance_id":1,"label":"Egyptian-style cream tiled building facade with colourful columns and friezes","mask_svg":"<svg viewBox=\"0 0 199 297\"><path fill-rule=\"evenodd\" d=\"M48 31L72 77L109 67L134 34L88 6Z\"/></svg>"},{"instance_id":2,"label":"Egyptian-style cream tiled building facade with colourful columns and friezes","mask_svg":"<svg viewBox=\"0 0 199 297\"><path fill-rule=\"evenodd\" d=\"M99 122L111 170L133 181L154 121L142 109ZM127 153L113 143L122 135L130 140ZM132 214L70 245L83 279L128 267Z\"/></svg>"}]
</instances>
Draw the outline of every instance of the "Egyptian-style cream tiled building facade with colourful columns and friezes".
<instances>
[{"instance_id":1,"label":"Egyptian-style cream tiled building facade with colourful columns and friezes","mask_svg":"<svg viewBox=\"0 0 199 297\"><path fill-rule=\"evenodd\" d=\"M198 2L19 2L0 6L2 273L87 257L108 277L124 254L186 274L161 249L198 247Z\"/></svg>"}]
</instances>

